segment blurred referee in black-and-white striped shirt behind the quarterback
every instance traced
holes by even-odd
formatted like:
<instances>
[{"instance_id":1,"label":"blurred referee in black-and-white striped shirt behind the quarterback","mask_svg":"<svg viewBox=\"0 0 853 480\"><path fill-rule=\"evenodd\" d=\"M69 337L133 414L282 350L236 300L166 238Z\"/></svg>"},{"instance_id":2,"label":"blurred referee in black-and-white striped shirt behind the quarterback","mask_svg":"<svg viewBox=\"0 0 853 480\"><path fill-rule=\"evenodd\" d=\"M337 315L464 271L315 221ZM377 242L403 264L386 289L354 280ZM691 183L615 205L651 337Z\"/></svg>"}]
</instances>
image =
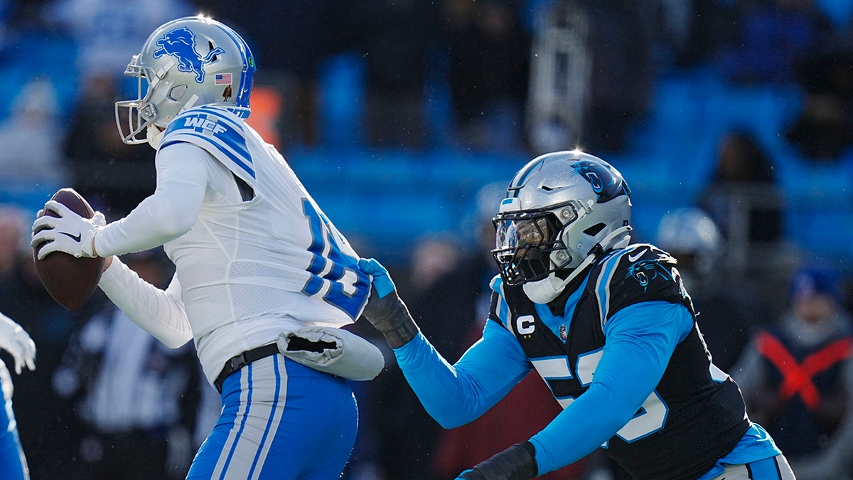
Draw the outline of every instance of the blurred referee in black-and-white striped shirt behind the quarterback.
<instances>
[{"instance_id":1,"label":"blurred referee in black-and-white striped shirt behind the quarterback","mask_svg":"<svg viewBox=\"0 0 853 480\"><path fill-rule=\"evenodd\" d=\"M122 258L140 278L165 288L165 255L146 250ZM194 444L202 385L191 344L171 349L102 301L68 342L53 386L75 405L83 427L75 457L83 478L184 478ZM218 412L213 411L216 418ZM209 423L209 422L208 422Z\"/></svg>"}]
</instances>

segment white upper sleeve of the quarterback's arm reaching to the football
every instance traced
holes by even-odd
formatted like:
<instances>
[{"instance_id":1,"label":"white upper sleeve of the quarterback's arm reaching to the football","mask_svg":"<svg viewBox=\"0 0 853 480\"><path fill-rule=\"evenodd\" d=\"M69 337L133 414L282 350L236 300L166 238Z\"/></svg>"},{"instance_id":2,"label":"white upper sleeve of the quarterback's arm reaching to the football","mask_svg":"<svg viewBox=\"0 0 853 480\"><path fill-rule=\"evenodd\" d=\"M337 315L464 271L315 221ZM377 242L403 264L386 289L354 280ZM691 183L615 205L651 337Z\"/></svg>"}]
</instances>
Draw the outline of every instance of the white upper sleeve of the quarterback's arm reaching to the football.
<instances>
[{"instance_id":1,"label":"white upper sleeve of the quarterback's arm reaching to the football","mask_svg":"<svg viewBox=\"0 0 853 480\"><path fill-rule=\"evenodd\" d=\"M154 249L189 231L195 224L208 184L212 156L192 143L160 149L155 164L157 188L124 219L98 231L99 256Z\"/></svg>"}]
</instances>

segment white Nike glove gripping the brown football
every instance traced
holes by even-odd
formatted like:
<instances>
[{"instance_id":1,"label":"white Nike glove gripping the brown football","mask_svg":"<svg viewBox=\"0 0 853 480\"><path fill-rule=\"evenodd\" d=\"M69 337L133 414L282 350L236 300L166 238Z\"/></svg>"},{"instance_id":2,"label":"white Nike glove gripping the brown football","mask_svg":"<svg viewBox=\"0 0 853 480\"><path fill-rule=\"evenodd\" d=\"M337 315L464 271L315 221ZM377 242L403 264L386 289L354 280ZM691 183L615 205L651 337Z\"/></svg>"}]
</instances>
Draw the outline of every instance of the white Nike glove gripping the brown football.
<instances>
[{"instance_id":1,"label":"white Nike glove gripping the brown football","mask_svg":"<svg viewBox=\"0 0 853 480\"><path fill-rule=\"evenodd\" d=\"M49 215L39 216L32 222L32 242L36 248L44 243L38 251L38 260L52 252L65 252L77 258L95 258L95 234L107 220L101 212L96 212L90 219L84 219L60 202L50 200L44 204L44 209L53 210L59 217ZM42 214L43 211L39 211Z\"/></svg>"}]
</instances>

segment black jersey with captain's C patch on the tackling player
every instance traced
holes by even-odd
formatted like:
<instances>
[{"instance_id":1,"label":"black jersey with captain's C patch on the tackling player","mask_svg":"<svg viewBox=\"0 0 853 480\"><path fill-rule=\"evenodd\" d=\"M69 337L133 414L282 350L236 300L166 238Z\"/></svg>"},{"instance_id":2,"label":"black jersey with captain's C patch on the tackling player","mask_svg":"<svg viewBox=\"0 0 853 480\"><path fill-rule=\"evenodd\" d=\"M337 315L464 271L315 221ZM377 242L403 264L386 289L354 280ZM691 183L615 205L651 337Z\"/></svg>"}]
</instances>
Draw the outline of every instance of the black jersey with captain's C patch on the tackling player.
<instances>
[{"instance_id":1,"label":"black jersey with captain's C patch on the tackling player","mask_svg":"<svg viewBox=\"0 0 853 480\"><path fill-rule=\"evenodd\" d=\"M648 244L609 252L586 278L577 280L567 296L566 321L557 330L543 323L521 287L504 285L493 296L490 319L514 334L564 407L589 389L606 342L604 325L614 313L644 301L666 301L682 304L693 314L693 330L676 346L657 388L637 416L607 442L607 453L637 478L699 477L728 454L750 426L737 384L711 365L675 263ZM508 306L506 323L498 315L501 295ZM554 358L564 356L570 375L543 374Z\"/></svg>"}]
</instances>

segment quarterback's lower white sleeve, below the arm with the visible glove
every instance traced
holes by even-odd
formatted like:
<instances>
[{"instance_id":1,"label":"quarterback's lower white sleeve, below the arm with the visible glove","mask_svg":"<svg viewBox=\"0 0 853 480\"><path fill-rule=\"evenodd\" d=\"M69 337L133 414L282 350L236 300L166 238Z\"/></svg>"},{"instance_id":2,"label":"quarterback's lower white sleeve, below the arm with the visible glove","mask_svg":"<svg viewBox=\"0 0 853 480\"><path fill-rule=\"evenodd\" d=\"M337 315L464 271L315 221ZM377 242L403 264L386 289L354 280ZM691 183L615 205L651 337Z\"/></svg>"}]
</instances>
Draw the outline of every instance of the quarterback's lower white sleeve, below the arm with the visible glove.
<instances>
[{"instance_id":1,"label":"quarterback's lower white sleeve, below the arm with the visible glove","mask_svg":"<svg viewBox=\"0 0 853 480\"><path fill-rule=\"evenodd\" d=\"M160 290L113 257L98 286L128 318L166 347L178 348L193 337L177 277Z\"/></svg>"}]
</instances>

